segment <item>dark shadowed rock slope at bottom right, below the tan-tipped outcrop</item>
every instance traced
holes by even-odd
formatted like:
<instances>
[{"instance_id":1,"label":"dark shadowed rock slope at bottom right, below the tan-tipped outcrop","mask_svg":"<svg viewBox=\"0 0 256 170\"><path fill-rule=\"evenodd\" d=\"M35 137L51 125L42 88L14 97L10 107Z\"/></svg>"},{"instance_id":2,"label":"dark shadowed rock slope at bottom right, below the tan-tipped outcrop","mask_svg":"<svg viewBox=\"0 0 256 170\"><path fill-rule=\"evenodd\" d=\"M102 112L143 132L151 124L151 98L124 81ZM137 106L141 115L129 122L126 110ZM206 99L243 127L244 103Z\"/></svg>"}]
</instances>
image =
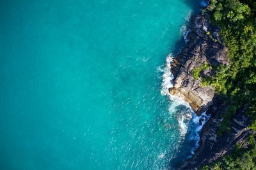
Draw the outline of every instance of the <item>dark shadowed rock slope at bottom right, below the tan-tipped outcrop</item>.
<instances>
[{"instance_id":1,"label":"dark shadowed rock slope at bottom right, below the tan-tipped outcrop","mask_svg":"<svg viewBox=\"0 0 256 170\"><path fill-rule=\"evenodd\" d=\"M213 101L207 111L207 114L212 116L205 123L200 134L200 147L195 155L186 160L179 169L198 169L198 167L212 164L230 153L236 144L247 148L249 143L246 139L249 135L255 135L255 132L248 128L250 120L245 116L244 109L240 109L230 120L230 130L218 137L218 127L223 120L221 114L227 112L227 107L225 107L225 101L221 97L214 98Z\"/></svg>"}]
</instances>

